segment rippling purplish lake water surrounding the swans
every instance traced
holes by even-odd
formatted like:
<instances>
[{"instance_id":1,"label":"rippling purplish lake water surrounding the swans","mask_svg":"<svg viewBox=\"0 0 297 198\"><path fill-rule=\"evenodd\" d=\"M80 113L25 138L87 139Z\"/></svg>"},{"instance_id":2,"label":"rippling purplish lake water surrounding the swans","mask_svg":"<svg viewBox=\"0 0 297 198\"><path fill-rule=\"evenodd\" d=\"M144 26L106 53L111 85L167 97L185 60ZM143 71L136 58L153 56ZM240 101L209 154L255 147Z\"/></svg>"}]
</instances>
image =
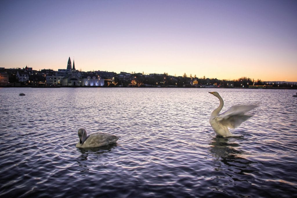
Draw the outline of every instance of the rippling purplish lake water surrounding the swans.
<instances>
[{"instance_id":1,"label":"rippling purplish lake water surrounding the swans","mask_svg":"<svg viewBox=\"0 0 297 198\"><path fill-rule=\"evenodd\" d=\"M219 100L258 104L216 137ZM25 93L26 96L18 96ZM297 99L292 90L0 88L0 197L293 197ZM75 148L77 131L121 136Z\"/></svg>"}]
</instances>

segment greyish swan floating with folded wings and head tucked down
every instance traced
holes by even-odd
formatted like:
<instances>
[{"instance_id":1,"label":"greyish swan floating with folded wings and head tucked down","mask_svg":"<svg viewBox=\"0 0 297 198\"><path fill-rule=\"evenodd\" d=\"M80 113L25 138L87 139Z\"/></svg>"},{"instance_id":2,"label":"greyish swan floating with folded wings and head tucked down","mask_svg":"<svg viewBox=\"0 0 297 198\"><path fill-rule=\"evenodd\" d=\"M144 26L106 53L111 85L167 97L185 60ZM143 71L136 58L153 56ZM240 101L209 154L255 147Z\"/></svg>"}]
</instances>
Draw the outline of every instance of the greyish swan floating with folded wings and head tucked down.
<instances>
[{"instance_id":1,"label":"greyish swan floating with folded wings and head tucked down","mask_svg":"<svg viewBox=\"0 0 297 198\"><path fill-rule=\"evenodd\" d=\"M96 132L87 136L85 129L78 129L79 142L77 142L77 148L93 148L99 146L106 146L112 143L116 143L119 140L119 136L110 135L106 133Z\"/></svg>"}]
</instances>

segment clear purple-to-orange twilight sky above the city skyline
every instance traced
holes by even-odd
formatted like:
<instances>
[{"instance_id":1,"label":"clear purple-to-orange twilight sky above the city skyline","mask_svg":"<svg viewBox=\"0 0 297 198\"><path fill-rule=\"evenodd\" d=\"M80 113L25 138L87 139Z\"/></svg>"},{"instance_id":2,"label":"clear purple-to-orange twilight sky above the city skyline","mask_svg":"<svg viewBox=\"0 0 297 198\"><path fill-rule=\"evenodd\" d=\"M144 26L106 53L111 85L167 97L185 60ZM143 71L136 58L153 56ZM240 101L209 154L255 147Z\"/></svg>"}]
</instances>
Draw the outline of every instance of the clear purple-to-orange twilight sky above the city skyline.
<instances>
[{"instance_id":1,"label":"clear purple-to-orange twilight sky above the city skyline","mask_svg":"<svg viewBox=\"0 0 297 198\"><path fill-rule=\"evenodd\" d=\"M297 1L0 1L0 67L297 81Z\"/></svg>"}]
</instances>

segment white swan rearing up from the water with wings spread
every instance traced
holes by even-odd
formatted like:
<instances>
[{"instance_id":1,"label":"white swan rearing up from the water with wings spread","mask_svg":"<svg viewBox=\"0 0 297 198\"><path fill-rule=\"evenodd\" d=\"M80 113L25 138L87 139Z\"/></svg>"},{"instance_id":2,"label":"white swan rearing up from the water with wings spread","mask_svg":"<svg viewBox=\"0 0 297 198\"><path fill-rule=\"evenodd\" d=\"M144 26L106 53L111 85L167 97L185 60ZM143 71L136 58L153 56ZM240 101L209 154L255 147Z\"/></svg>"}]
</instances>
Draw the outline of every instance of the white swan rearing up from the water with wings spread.
<instances>
[{"instance_id":1,"label":"white swan rearing up from the water with wings spread","mask_svg":"<svg viewBox=\"0 0 297 198\"><path fill-rule=\"evenodd\" d=\"M246 121L252 115L245 115L244 113L254 109L257 105L234 105L230 107L227 111L219 114L224 106L224 101L218 92L208 92L216 96L220 100L220 105L216 108L209 118L209 123L214 129L216 134L223 137L241 137L236 134L232 134L228 128L235 129L242 122Z\"/></svg>"}]
</instances>

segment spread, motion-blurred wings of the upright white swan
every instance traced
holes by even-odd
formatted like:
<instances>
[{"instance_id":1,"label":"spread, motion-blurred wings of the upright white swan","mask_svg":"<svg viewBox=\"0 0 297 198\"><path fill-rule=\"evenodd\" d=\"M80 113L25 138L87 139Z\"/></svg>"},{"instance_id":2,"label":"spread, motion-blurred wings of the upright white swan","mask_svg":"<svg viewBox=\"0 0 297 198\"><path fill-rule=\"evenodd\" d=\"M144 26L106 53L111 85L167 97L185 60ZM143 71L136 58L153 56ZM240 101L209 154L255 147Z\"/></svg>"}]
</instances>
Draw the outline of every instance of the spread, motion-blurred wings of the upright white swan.
<instances>
[{"instance_id":1,"label":"spread, motion-blurred wings of the upright white swan","mask_svg":"<svg viewBox=\"0 0 297 198\"><path fill-rule=\"evenodd\" d=\"M257 105L234 105L219 115L216 120L222 125L227 126L230 129L234 129L252 117L252 115L245 115L244 113L256 107Z\"/></svg>"}]
</instances>

